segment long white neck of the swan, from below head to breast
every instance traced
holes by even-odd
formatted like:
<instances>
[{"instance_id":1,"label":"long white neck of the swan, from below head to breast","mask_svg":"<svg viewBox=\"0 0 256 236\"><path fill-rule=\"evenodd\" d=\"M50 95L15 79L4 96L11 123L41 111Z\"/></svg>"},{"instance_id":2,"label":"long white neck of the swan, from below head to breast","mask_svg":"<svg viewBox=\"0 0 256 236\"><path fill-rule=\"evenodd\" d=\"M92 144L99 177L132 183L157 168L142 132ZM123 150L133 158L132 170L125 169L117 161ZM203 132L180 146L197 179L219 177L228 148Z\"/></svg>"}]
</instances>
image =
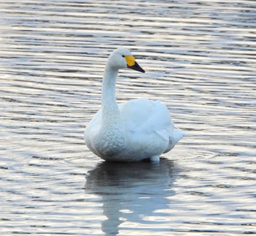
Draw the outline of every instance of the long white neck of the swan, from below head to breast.
<instances>
[{"instance_id":1,"label":"long white neck of the swan, from below head to breast","mask_svg":"<svg viewBox=\"0 0 256 236\"><path fill-rule=\"evenodd\" d=\"M99 130L99 153L113 156L125 146L124 124L116 103L118 69L107 63L102 81L102 124Z\"/></svg>"}]
</instances>

